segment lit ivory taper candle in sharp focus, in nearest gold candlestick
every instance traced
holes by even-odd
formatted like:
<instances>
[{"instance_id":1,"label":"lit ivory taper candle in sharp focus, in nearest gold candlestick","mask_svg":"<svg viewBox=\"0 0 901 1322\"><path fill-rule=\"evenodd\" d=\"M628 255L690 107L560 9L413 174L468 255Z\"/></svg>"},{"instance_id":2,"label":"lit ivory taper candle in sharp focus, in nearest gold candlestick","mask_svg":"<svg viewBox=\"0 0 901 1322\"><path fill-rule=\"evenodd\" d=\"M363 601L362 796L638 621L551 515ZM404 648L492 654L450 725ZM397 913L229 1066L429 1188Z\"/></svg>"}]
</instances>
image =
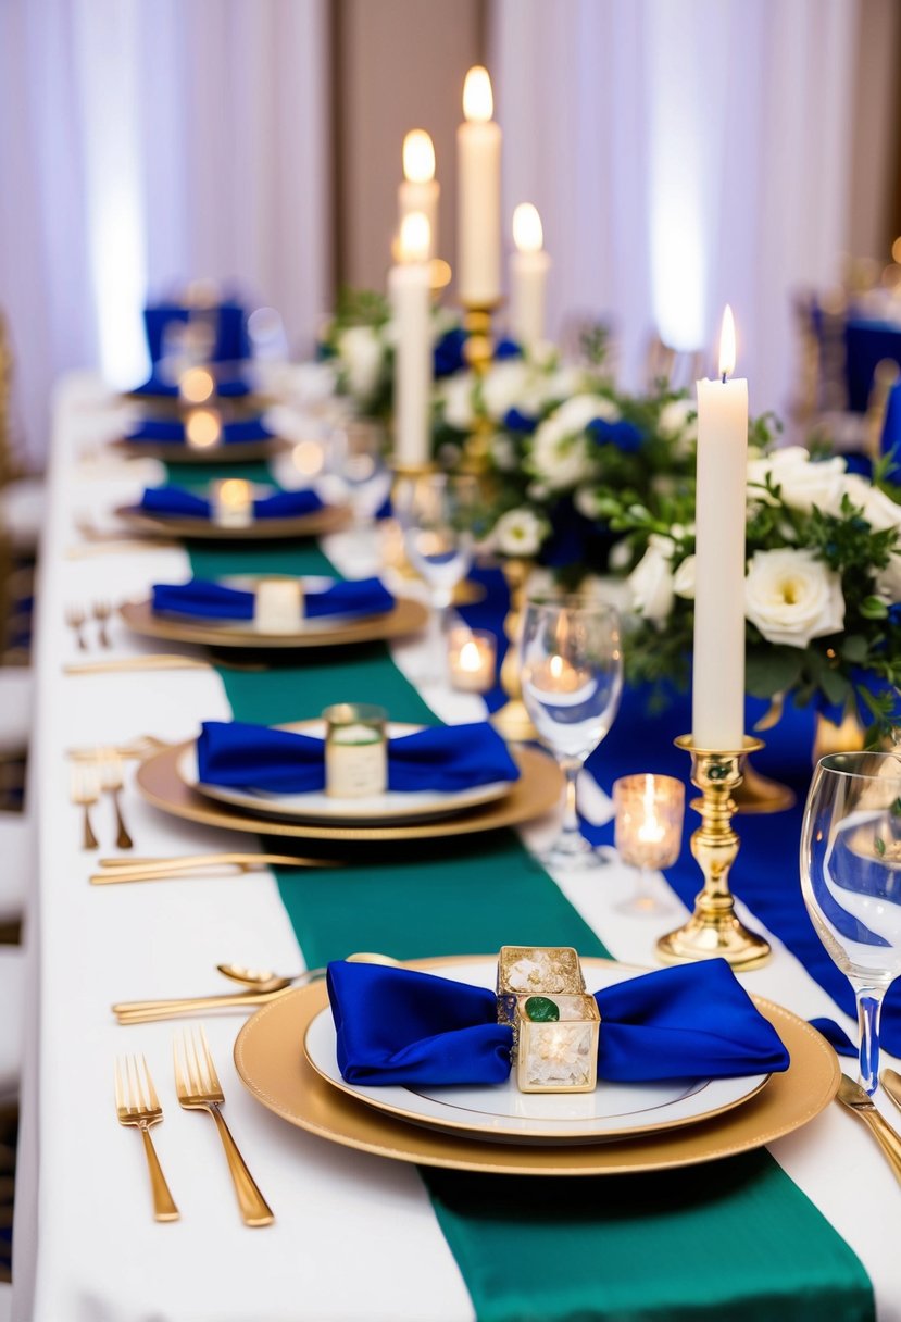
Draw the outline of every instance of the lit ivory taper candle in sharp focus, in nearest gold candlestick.
<instances>
[{"instance_id":1,"label":"lit ivory taper candle in sharp focus, in nearest gold candlestick","mask_svg":"<svg viewBox=\"0 0 901 1322\"><path fill-rule=\"evenodd\" d=\"M735 369L727 305L720 379L698 382L698 494L692 736L696 748L741 748L745 694L748 382Z\"/></svg>"}]
</instances>

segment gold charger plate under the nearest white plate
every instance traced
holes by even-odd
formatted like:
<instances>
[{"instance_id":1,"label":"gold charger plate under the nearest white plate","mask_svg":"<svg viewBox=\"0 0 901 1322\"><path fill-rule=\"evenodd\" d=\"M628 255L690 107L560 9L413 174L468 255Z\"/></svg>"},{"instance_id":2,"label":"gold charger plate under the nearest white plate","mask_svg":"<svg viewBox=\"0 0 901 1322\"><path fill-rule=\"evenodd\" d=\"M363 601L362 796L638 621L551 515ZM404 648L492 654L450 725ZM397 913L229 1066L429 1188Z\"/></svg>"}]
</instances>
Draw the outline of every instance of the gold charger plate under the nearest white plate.
<instances>
[{"instance_id":1,"label":"gold charger plate under the nearest white plate","mask_svg":"<svg viewBox=\"0 0 901 1322\"><path fill-rule=\"evenodd\" d=\"M411 961L411 968L441 969L461 957ZM591 968L609 961L584 960ZM828 1043L803 1019L782 1006L754 997L754 1005L774 1025L791 1064L773 1075L744 1105L712 1120L579 1146L515 1146L454 1137L436 1129L395 1120L333 1088L304 1055L312 1019L328 1003L322 982L287 992L258 1010L235 1042L235 1067L248 1089L283 1120L330 1142L454 1170L498 1175L628 1175L695 1166L762 1147L806 1125L835 1097L840 1071Z\"/></svg>"}]
</instances>

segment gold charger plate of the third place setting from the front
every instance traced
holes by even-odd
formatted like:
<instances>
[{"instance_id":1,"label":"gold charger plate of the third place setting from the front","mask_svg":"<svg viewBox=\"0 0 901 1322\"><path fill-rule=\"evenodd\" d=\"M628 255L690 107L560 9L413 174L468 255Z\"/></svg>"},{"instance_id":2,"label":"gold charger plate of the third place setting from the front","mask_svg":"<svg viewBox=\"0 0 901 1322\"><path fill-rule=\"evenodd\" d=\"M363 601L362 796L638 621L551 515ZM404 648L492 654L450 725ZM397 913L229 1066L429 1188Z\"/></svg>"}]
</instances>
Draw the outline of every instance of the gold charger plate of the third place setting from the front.
<instances>
[{"instance_id":1,"label":"gold charger plate of the third place setting from the front","mask_svg":"<svg viewBox=\"0 0 901 1322\"><path fill-rule=\"evenodd\" d=\"M299 629L296 633L262 633L251 624L214 624L201 620L155 615L149 599L128 602L119 613L135 633L152 639L173 639L178 642L201 642L210 648L333 648L351 642L373 642L378 639L398 639L417 633L428 623L428 609L421 602L399 596L394 609L383 615L343 619L333 628Z\"/></svg>"}]
</instances>

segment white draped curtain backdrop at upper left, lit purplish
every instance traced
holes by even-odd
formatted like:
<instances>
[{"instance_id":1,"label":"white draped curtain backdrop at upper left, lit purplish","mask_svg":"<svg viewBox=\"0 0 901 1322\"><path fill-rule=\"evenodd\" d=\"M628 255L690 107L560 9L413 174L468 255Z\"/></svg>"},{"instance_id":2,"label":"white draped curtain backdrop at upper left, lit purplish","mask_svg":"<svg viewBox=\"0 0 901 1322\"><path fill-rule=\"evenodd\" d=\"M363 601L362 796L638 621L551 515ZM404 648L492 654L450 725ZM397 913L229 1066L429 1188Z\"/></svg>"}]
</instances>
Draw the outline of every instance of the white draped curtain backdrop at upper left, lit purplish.
<instances>
[{"instance_id":1,"label":"white draped curtain backdrop at upper left, lit purplish","mask_svg":"<svg viewBox=\"0 0 901 1322\"><path fill-rule=\"evenodd\" d=\"M147 371L210 276L310 349L330 303L328 0L0 0L0 307L33 461L61 371Z\"/></svg>"}]
</instances>

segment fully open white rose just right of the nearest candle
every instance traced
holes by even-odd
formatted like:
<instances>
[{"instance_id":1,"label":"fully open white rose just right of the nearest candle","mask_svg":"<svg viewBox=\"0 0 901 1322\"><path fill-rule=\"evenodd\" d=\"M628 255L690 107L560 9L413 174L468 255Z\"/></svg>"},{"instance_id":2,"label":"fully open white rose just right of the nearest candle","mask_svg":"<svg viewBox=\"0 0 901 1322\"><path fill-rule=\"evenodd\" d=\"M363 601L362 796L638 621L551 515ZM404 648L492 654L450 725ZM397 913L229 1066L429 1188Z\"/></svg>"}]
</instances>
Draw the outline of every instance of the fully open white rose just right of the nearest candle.
<instances>
[{"instance_id":1,"label":"fully open white rose just right of the nearest candle","mask_svg":"<svg viewBox=\"0 0 901 1322\"><path fill-rule=\"evenodd\" d=\"M844 624L842 579L812 551L754 551L745 579L745 615L768 642L806 648Z\"/></svg>"}]
</instances>

